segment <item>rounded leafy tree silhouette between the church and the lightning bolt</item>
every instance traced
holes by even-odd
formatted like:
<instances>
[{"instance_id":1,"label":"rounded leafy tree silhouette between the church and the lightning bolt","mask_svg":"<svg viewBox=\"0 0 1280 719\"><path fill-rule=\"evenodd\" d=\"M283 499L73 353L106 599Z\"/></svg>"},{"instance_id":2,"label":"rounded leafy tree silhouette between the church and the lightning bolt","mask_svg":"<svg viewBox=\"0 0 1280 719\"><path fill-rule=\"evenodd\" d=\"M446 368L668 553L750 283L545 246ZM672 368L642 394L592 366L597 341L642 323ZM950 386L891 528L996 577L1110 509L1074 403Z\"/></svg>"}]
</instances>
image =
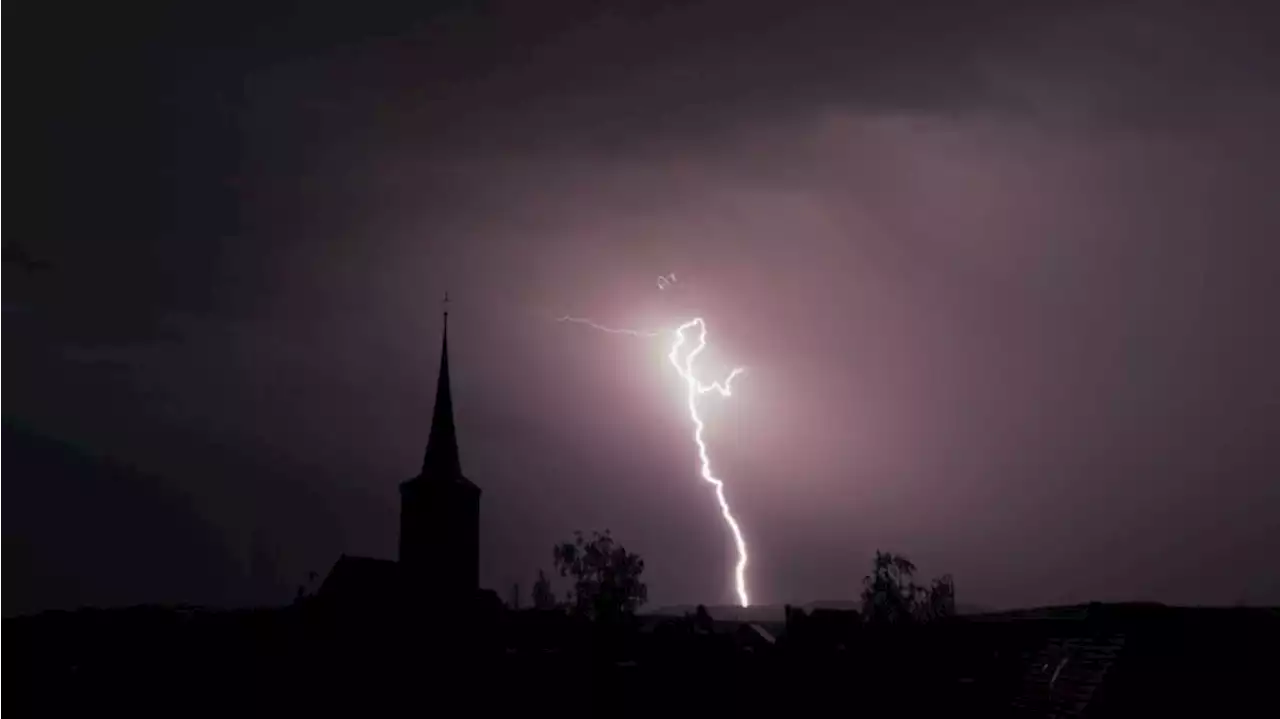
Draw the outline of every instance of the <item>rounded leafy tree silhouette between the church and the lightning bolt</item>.
<instances>
[{"instance_id":1,"label":"rounded leafy tree silhouette between the church and the lightning bolt","mask_svg":"<svg viewBox=\"0 0 1280 719\"><path fill-rule=\"evenodd\" d=\"M593 532L588 540L573 532L573 541L552 549L556 568L573 580L570 594L573 612L598 620L613 620L634 614L649 591L640 574L644 559L618 544L608 530Z\"/></svg>"}]
</instances>

